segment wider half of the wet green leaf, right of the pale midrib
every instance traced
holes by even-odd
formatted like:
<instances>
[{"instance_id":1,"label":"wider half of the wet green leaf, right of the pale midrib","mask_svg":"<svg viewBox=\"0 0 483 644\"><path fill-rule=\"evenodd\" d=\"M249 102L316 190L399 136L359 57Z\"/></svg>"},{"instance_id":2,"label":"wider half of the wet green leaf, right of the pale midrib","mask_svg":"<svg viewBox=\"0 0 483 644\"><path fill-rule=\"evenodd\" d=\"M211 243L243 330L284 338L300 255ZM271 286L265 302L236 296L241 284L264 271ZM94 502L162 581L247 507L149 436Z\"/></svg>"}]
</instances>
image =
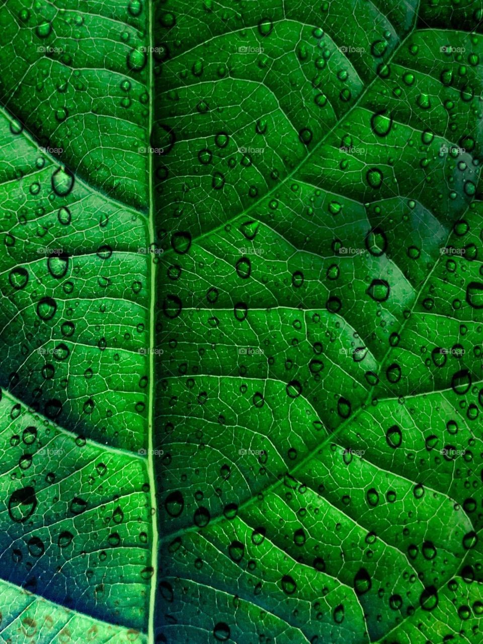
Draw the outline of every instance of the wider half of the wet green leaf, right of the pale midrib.
<instances>
[{"instance_id":1,"label":"wider half of the wet green leaf, right of the pale midrib","mask_svg":"<svg viewBox=\"0 0 483 644\"><path fill-rule=\"evenodd\" d=\"M161 641L481 637L480 9L160 7Z\"/></svg>"}]
</instances>

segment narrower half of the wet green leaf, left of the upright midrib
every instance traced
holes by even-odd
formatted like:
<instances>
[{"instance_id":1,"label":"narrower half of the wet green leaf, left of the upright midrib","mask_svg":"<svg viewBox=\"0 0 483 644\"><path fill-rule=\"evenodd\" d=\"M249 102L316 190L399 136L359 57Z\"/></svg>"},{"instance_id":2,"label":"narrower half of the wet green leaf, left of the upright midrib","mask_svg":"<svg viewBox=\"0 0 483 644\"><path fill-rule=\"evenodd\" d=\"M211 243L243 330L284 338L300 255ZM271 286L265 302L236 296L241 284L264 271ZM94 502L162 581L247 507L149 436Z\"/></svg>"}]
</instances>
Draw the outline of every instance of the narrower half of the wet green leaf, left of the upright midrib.
<instances>
[{"instance_id":1,"label":"narrower half of the wet green leaf, left of the upright midrib","mask_svg":"<svg viewBox=\"0 0 483 644\"><path fill-rule=\"evenodd\" d=\"M142 644L149 11L9 1L0 24L1 639Z\"/></svg>"}]
</instances>

